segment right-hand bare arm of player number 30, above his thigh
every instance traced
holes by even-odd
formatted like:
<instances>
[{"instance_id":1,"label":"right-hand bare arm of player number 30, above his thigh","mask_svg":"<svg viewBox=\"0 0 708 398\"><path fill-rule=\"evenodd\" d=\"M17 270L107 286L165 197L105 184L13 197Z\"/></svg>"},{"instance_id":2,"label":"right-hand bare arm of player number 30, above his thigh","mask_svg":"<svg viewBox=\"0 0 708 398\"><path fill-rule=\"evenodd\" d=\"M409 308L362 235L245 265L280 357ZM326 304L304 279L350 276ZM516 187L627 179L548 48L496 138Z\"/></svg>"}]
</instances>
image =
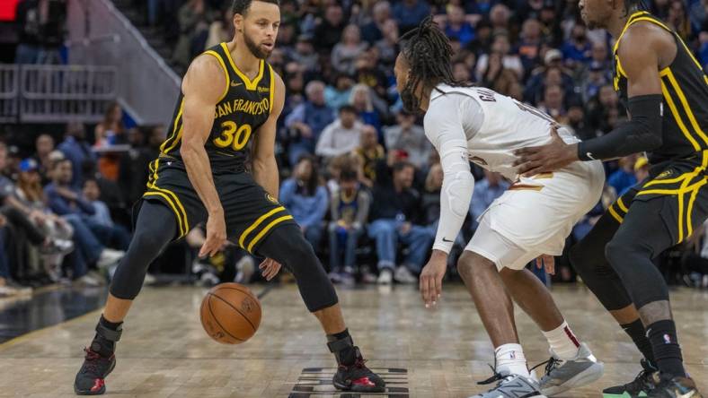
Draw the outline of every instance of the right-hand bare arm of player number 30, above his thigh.
<instances>
[{"instance_id":1,"label":"right-hand bare arm of player number 30, above his thigh","mask_svg":"<svg viewBox=\"0 0 708 398\"><path fill-rule=\"evenodd\" d=\"M275 93L273 94L273 108L268 120L258 128L255 134L252 158L253 179L260 184L270 195L278 198L278 163L275 161L275 136L278 117L285 104L285 83L279 74L273 72L275 79Z\"/></svg>"}]
</instances>

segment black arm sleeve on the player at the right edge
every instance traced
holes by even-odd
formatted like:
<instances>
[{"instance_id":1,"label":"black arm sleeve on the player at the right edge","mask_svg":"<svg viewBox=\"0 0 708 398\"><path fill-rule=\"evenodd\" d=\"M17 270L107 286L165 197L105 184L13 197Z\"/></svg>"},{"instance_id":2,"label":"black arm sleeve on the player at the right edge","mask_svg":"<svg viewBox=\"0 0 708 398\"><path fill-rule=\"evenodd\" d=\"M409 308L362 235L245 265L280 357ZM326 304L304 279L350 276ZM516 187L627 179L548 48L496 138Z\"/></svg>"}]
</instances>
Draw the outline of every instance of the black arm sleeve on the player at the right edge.
<instances>
[{"instance_id":1,"label":"black arm sleeve on the player at the right edge","mask_svg":"<svg viewBox=\"0 0 708 398\"><path fill-rule=\"evenodd\" d=\"M652 151L662 143L662 97L659 94L640 95L629 99L632 120L597 138L578 144L580 160L607 160L633 153Z\"/></svg>"}]
</instances>

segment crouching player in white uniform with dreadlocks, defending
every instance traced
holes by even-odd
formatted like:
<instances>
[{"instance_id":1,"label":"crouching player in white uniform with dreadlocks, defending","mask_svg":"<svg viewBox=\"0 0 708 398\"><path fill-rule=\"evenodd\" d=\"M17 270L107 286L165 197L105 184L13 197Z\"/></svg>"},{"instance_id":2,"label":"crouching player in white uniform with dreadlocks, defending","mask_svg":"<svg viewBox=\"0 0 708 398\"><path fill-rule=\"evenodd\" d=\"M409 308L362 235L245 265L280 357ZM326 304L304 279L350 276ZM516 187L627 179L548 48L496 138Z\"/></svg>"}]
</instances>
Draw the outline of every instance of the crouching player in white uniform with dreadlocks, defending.
<instances>
[{"instance_id":1,"label":"crouching player in white uniform with dreadlocks, defending","mask_svg":"<svg viewBox=\"0 0 708 398\"><path fill-rule=\"evenodd\" d=\"M457 269L470 291L495 349L498 381L482 398L554 395L602 376L603 365L580 343L544 284L525 269L537 257L561 255L575 222L599 200L602 165L575 162L553 174L518 177L513 151L547 143L556 128L577 142L551 117L497 92L465 87L452 77L452 49L430 19L403 37L395 75L405 108L425 111L425 133L440 154L445 172L438 234L429 263L420 274L426 307L435 306L447 268L447 254L465 221L474 179L469 160L514 181L482 214ZM553 264L546 263L553 272ZM552 358L540 381L530 376L518 343L511 297L538 324Z\"/></svg>"}]
</instances>

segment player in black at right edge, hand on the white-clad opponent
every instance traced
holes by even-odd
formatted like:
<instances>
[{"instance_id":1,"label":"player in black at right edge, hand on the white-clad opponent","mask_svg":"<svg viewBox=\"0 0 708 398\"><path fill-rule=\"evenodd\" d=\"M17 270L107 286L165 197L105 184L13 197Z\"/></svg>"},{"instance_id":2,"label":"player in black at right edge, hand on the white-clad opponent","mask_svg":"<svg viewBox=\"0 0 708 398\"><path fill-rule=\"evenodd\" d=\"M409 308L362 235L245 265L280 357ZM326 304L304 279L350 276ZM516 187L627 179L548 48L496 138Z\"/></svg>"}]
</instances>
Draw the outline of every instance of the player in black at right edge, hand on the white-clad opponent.
<instances>
[{"instance_id":1,"label":"player in black at right edge, hand on the white-clad opponent","mask_svg":"<svg viewBox=\"0 0 708 398\"><path fill-rule=\"evenodd\" d=\"M551 143L518 152L519 172L649 153L650 176L571 249L571 264L644 356L640 375L607 388L605 396L697 397L683 366L667 284L652 260L708 215L708 77L677 33L640 4L580 0L589 28L604 28L616 40L615 91L630 120L574 145L553 133Z\"/></svg>"}]
</instances>

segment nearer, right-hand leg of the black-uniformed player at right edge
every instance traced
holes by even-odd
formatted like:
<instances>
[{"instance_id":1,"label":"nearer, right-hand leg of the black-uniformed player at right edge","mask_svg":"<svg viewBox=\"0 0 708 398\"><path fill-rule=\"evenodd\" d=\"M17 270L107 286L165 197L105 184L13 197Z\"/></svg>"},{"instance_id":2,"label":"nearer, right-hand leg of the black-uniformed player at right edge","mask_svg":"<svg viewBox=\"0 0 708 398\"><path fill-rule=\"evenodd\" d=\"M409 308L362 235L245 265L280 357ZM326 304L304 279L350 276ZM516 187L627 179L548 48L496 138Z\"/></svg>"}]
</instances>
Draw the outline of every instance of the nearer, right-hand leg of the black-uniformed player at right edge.
<instances>
[{"instance_id":1,"label":"nearer, right-hand leg of the black-uniformed player at right edge","mask_svg":"<svg viewBox=\"0 0 708 398\"><path fill-rule=\"evenodd\" d=\"M662 375L659 388L649 396L665 396L659 390L679 387L687 394L695 385L685 378L668 287L652 259L686 238L692 225L703 223L708 213L708 189L698 185L677 195L639 195L607 244L606 257L639 311Z\"/></svg>"}]
</instances>

